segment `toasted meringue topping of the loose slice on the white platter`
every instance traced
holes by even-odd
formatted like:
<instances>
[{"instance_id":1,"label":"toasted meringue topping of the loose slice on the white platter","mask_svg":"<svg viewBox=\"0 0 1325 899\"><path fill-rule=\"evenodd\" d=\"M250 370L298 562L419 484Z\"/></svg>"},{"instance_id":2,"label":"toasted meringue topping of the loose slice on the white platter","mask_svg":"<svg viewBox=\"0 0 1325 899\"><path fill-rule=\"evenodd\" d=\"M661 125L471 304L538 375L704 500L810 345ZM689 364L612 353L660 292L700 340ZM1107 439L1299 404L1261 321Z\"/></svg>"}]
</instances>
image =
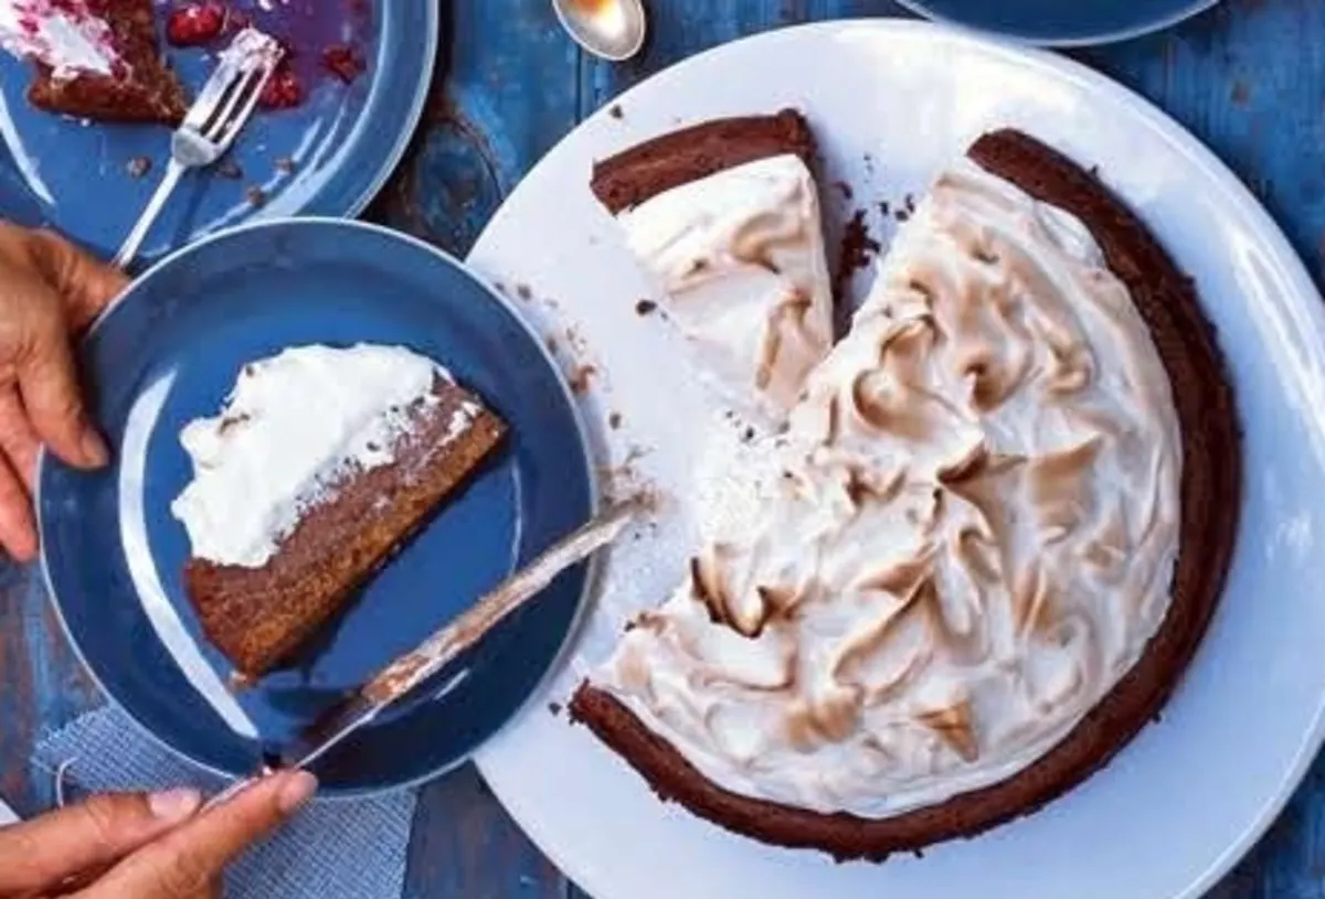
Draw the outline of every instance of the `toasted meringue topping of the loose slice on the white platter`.
<instances>
[{"instance_id":1,"label":"toasted meringue topping of the loose slice on the white platter","mask_svg":"<svg viewBox=\"0 0 1325 899\"><path fill-rule=\"evenodd\" d=\"M697 367L780 422L832 346L819 193L794 155L665 191L617 216Z\"/></svg>"}]
</instances>

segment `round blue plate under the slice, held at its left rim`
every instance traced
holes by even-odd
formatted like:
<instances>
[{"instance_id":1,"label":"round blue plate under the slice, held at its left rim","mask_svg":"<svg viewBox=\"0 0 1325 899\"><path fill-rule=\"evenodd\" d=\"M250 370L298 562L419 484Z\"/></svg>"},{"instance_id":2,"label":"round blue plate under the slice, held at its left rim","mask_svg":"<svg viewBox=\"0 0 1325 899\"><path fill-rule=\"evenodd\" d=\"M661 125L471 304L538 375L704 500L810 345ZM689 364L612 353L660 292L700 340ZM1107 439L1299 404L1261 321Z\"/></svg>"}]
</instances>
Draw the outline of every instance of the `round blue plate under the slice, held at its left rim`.
<instances>
[{"instance_id":1,"label":"round blue plate under the slice, held at its left rim","mask_svg":"<svg viewBox=\"0 0 1325 899\"><path fill-rule=\"evenodd\" d=\"M170 503L191 478L179 430L215 414L240 367L306 343L404 344L447 365L511 440L294 667L232 696L228 665L184 597L189 552ZM579 420L542 344L458 262L383 229L330 220L248 225L152 269L82 347L115 463L40 471L50 593L105 691L150 733L228 775L250 772L335 698L466 608L591 514ZM454 765L538 686L587 573L572 569L436 685L318 768L352 794ZM458 678L458 679L457 679Z\"/></svg>"}]
</instances>

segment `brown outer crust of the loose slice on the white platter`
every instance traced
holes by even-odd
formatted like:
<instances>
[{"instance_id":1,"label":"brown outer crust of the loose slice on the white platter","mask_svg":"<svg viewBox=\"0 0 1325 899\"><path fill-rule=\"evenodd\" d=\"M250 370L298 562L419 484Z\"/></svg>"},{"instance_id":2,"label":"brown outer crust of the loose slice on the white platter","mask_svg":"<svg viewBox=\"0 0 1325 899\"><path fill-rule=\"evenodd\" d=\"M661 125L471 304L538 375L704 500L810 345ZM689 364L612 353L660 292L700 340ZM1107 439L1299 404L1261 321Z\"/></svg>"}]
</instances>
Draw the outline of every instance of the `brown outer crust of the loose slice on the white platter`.
<instances>
[{"instance_id":1,"label":"brown outer crust of the loose slice on the white platter","mask_svg":"<svg viewBox=\"0 0 1325 899\"><path fill-rule=\"evenodd\" d=\"M800 113L717 119L596 163L590 187L615 216L681 184L784 154L800 156L806 164L815 155L814 134Z\"/></svg>"}]
</instances>

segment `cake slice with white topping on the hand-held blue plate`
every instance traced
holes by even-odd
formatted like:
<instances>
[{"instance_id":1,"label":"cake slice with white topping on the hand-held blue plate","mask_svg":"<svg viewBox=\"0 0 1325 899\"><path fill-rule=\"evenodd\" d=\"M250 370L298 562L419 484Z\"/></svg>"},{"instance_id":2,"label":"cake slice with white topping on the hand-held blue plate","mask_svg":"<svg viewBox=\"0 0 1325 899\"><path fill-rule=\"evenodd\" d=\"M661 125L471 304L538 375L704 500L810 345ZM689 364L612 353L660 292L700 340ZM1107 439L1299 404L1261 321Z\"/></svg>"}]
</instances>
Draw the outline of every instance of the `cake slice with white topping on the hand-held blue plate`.
<instances>
[{"instance_id":1,"label":"cake slice with white topping on the hand-held blue plate","mask_svg":"<svg viewBox=\"0 0 1325 899\"><path fill-rule=\"evenodd\" d=\"M244 367L180 442L171 511L208 639L245 679L286 661L505 433L445 369L400 347L307 346Z\"/></svg>"}]
</instances>

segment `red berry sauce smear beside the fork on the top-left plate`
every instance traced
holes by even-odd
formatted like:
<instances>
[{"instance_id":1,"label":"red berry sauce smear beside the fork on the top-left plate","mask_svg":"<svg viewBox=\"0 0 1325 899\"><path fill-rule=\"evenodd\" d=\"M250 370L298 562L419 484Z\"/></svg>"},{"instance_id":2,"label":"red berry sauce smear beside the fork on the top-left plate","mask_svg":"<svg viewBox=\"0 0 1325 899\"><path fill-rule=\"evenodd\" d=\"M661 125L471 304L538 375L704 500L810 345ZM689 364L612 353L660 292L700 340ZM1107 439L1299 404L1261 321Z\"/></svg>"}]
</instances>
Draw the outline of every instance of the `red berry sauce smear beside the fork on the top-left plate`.
<instances>
[{"instance_id":1,"label":"red berry sauce smear beside the fork on the top-left plate","mask_svg":"<svg viewBox=\"0 0 1325 899\"><path fill-rule=\"evenodd\" d=\"M258 101L266 110L297 109L323 82L343 89L367 70L371 0L171 0L166 11L176 48L220 50L249 25L280 40L285 58Z\"/></svg>"}]
</instances>

